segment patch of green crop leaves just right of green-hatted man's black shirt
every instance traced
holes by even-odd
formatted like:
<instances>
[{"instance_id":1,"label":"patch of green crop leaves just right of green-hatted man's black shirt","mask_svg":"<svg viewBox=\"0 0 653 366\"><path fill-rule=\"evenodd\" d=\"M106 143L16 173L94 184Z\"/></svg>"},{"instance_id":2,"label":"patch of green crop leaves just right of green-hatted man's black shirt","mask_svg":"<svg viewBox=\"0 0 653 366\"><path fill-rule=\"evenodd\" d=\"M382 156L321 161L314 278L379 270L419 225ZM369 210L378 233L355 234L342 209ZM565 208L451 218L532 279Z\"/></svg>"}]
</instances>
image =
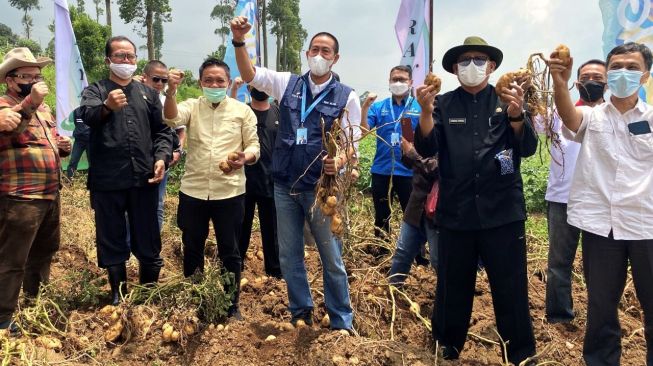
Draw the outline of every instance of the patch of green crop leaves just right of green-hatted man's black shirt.
<instances>
[{"instance_id":1,"label":"patch of green crop leaves just right of green-hatted man's black shirt","mask_svg":"<svg viewBox=\"0 0 653 366\"><path fill-rule=\"evenodd\" d=\"M549 177L550 156L546 149L539 149L540 153L523 159L521 175L524 182L524 198L526 210L529 213L546 212L546 185Z\"/></svg>"}]
</instances>

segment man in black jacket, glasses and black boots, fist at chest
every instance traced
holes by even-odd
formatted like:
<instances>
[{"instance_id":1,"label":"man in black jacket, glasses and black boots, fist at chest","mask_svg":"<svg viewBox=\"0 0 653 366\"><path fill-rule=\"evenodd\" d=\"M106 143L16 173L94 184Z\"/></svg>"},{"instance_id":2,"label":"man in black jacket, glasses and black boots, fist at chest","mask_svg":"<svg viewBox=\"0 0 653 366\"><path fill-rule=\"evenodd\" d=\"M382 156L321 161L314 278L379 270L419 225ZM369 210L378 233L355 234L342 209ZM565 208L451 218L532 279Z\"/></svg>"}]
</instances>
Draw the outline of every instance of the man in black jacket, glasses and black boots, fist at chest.
<instances>
[{"instance_id":1,"label":"man in black jacket, glasses and black boots, fist at chest","mask_svg":"<svg viewBox=\"0 0 653 366\"><path fill-rule=\"evenodd\" d=\"M130 251L140 263L142 284L157 282L163 266L157 192L172 155L172 132L163 124L158 93L132 82L133 42L113 37L105 54L109 79L84 90L80 113L91 128L88 188L95 210L98 262L108 270L113 302L118 303L126 291Z\"/></svg>"}]
</instances>

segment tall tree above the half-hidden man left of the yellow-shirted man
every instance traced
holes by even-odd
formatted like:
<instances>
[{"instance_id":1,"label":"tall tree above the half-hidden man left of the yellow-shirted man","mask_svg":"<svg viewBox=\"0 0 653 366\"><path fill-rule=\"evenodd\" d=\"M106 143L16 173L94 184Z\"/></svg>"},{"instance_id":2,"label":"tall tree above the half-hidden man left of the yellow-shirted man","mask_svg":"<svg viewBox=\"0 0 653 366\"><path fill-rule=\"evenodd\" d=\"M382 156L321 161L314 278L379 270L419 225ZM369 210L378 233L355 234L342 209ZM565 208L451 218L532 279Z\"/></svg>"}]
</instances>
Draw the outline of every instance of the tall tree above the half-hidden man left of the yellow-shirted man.
<instances>
[{"instance_id":1,"label":"tall tree above the half-hidden man left of the yellow-shirted man","mask_svg":"<svg viewBox=\"0 0 653 366\"><path fill-rule=\"evenodd\" d=\"M154 18L159 14L162 22L172 20L169 0L118 0L118 11L125 23L135 23L134 31L147 39L147 58L153 60L155 58ZM145 33L142 31L143 25L145 25ZM161 36L163 37L163 33Z\"/></svg>"}]
</instances>

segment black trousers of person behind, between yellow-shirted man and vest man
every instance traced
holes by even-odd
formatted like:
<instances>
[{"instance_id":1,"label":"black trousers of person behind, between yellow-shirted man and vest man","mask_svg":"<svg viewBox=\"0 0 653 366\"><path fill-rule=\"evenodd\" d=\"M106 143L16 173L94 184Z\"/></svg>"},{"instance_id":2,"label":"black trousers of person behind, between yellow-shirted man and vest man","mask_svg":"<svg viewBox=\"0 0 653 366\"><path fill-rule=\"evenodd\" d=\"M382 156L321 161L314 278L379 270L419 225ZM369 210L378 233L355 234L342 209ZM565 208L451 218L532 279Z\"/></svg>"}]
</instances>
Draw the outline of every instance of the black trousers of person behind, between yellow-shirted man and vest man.
<instances>
[{"instance_id":1,"label":"black trousers of person behind, between yellow-shirted man and vest man","mask_svg":"<svg viewBox=\"0 0 653 366\"><path fill-rule=\"evenodd\" d=\"M261 225L265 273L268 276L281 277L279 244L277 242L277 212L274 207L274 197L245 193L245 215L238 244L242 263L245 264L245 254L249 248L256 206L258 206L258 220Z\"/></svg>"}]
</instances>

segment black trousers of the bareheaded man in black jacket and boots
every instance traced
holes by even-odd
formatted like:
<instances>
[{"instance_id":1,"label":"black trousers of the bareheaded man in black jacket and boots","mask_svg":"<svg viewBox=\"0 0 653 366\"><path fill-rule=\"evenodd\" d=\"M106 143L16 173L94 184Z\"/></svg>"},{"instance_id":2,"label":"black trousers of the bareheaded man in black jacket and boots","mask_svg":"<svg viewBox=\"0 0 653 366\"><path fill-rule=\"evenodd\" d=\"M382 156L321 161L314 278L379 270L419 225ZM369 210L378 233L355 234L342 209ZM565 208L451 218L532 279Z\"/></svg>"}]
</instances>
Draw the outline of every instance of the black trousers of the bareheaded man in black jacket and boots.
<instances>
[{"instance_id":1,"label":"black trousers of the bareheaded man in black jacket and boots","mask_svg":"<svg viewBox=\"0 0 653 366\"><path fill-rule=\"evenodd\" d=\"M163 267L156 213L158 192L156 184L117 191L91 191L100 267L124 263L130 252L141 265ZM125 213L129 219L130 242L127 242Z\"/></svg>"}]
</instances>

